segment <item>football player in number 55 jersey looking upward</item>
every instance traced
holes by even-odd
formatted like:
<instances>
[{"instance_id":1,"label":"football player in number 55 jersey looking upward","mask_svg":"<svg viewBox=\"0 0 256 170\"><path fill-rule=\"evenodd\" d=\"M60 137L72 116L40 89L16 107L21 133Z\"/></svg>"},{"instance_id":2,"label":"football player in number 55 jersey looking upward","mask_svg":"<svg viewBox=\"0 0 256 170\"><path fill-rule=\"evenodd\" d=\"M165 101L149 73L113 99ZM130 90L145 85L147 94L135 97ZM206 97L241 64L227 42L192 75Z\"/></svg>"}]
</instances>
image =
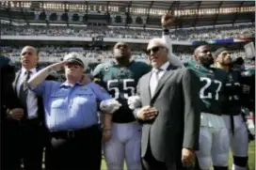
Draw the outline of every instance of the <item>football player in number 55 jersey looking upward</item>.
<instances>
[{"instance_id":1,"label":"football player in number 55 jersey looking upward","mask_svg":"<svg viewBox=\"0 0 256 170\"><path fill-rule=\"evenodd\" d=\"M115 60L98 65L93 76L104 86L115 100L122 104L113 115L112 137L104 143L104 158L108 170L122 170L125 160L128 170L138 170L140 164L141 128L127 99L136 94L138 79L152 70L144 62L131 60L131 50L127 43L118 42L113 49Z\"/></svg>"}]
</instances>

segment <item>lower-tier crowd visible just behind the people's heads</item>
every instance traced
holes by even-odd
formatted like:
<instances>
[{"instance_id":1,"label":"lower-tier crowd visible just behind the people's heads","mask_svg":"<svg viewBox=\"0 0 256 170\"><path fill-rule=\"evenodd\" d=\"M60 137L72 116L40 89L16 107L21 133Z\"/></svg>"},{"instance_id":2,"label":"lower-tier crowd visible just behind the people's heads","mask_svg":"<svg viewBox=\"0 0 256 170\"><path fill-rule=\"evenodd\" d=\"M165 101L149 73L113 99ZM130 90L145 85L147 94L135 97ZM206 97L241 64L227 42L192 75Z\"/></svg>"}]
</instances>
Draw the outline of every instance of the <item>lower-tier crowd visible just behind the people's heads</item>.
<instances>
[{"instance_id":1,"label":"lower-tier crowd visible just behind the people's heads","mask_svg":"<svg viewBox=\"0 0 256 170\"><path fill-rule=\"evenodd\" d=\"M13 47L2 47L2 54L17 60L20 56L22 48L13 48ZM40 52L40 61L49 61L49 62L57 62L60 61L61 58L64 57L65 54L69 54L71 52L76 52L84 55L91 62L99 62L106 61L108 59L112 59L113 53L112 51L103 51L103 50L85 50L81 47L60 47L60 46L44 46L39 48ZM134 59L147 60L147 55L143 51L133 51L132 56ZM188 53L174 53L180 57L182 61L186 61L191 59L192 54ZM232 57L246 57L244 51L232 51Z\"/></svg>"}]
</instances>

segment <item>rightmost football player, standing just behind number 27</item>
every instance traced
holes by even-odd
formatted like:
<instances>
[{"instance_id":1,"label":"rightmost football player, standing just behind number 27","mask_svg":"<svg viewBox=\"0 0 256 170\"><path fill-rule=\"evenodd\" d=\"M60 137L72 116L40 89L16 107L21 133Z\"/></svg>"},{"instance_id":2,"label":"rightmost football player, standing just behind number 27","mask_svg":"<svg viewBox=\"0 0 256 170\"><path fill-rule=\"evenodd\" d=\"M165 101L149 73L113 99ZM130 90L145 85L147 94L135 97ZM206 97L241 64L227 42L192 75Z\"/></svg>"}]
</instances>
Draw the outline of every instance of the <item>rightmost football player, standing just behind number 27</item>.
<instances>
[{"instance_id":1,"label":"rightmost football player, standing just behind number 27","mask_svg":"<svg viewBox=\"0 0 256 170\"><path fill-rule=\"evenodd\" d=\"M219 48L214 56L216 68L226 70L229 74L226 84L228 96L223 102L222 114L230 132L233 155L232 169L246 170L248 164L248 129L241 115L241 74L238 70L232 70L232 57L228 49Z\"/></svg>"}]
</instances>

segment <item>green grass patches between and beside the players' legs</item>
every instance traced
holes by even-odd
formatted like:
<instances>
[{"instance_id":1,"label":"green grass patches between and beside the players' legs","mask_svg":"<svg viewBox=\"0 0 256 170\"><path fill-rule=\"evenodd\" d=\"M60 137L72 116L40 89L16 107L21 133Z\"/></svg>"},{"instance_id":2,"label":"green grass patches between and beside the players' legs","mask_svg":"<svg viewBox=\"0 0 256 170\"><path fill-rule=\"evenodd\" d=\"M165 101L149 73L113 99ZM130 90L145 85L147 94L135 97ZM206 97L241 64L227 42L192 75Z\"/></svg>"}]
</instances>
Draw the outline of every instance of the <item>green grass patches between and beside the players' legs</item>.
<instances>
[{"instance_id":1,"label":"green grass patches between and beside the players' legs","mask_svg":"<svg viewBox=\"0 0 256 170\"><path fill-rule=\"evenodd\" d=\"M255 170L255 143L254 141L249 144L248 147L248 167L249 170ZM230 153L229 159L229 168L232 168L232 153ZM102 170L106 170L106 165L103 159L102 162ZM124 170L126 170L126 166L124 165Z\"/></svg>"}]
</instances>

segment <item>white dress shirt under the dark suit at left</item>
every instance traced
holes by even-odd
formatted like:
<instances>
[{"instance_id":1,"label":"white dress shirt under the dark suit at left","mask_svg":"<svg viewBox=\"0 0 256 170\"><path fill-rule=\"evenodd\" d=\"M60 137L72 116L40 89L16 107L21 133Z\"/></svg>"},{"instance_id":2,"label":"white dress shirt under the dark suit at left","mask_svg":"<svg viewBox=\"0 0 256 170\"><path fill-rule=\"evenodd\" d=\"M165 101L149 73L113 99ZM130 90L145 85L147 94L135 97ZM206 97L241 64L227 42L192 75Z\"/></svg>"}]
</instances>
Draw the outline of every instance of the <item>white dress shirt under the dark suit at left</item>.
<instances>
[{"instance_id":1,"label":"white dress shirt under the dark suit at left","mask_svg":"<svg viewBox=\"0 0 256 170\"><path fill-rule=\"evenodd\" d=\"M16 90L18 96L20 95L20 88L21 85L24 83L24 79L26 77L25 75L25 69L22 68L21 75L19 77L19 80L17 82ZM30 77L37 73L36 68L29 70ZM35 118L38 117L38 98L36 97L35 93L32 92L30 89L27 91L27 98L26 98L26 108L27 108L27 118Z\"/></svg>"}]
</instances>

